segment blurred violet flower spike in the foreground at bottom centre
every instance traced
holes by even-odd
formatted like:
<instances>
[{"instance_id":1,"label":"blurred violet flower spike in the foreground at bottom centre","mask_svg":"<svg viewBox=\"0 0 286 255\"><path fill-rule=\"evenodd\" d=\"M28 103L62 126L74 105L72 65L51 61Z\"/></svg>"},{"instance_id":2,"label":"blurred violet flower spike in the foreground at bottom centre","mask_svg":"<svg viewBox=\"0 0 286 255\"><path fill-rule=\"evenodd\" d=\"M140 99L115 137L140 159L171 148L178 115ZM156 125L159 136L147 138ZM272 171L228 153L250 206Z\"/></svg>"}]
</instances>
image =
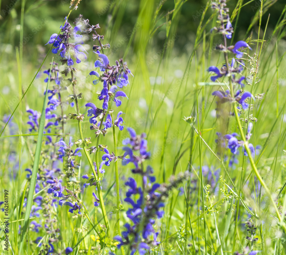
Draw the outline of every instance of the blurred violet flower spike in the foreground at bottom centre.
<instances>
[{"instance_id":1,"label":"blurred violet flower spike in the foreground at bottom centre","mask_svg":"<svg viewBox=\"0 0 286 255\"><path fill-rule=\"evenodd\" d=\"M134 254L137 250L142 255L146 253L146 250L160 243L157 241L159 232L155 230L155 221L162 218L164 214L162 198L166 194L160 191L161 185L155 183L156 178L152 167L148 165L146 170L143 169L142 163L150 157L150 152L147 151L147 141L144 139L146 135L136 135L132 128L128 128L128 132L130 138L125 139L123 144L129 146L123 148L125 153L122 157L122 164L132 163L134 165L132 172L142 176L144 187L139 187L132 177L126 181L128 191L124 201L131 205L126 215L132 224L126 223L124 225L126 231L122 232L122 236L116 236L114 239L120 242L118 248L122 245L129 245L130 254Z\"/></svg>"}]
</instances>

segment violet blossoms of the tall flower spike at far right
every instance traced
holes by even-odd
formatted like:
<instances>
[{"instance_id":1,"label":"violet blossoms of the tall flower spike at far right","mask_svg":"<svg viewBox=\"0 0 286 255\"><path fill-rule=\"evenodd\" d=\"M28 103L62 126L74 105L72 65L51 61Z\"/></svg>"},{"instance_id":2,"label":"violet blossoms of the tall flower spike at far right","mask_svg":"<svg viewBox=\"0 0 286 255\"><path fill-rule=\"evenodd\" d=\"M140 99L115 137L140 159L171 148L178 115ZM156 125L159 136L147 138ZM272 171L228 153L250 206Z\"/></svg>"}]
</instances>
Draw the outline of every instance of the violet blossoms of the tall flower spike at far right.
<instances>
[{"instance_id":1,"label":"violet blossoms of the tall flower spike at far right","mask_svg":"<svg viewBox=\"0 0 286 255\"><path fill-rule=\"evenodd\" d=\"M227 39L230 39L232 37L233 33L233 27L231 25L230 19L229 19L229 9L226 7L226 1L225 0L219 0L217 2L212 3L212 9L217 11L218 13L218 23L219 27L214 27L213 30L217 31L218 33L221 33L224 38L224 44L218 45L217 49L219 49L221 52L224 53L226 57L226 64L223 65L220 69L216 66L210 66L208 68L209 72L214 72L215 75L211 76L211 80L213 82L217 81L220 78L227 77L230 81L229 86L231 86L231 89L233 91L233 95L229 89L223 91L223 90L217 90L212 93L213 96L216 96L217 98L217 116L220 116L220 111L222 111L223 104L228 103L235 103L238 104L237 109L239 109L240 112L243 112L247 109L249 109L249 98L253 98L253 95L251 92L244 91L245 84L243 83L243 80L245 80L245 76L241 75L241 72L243 71L245 67L245 63L241 58L243 58L245 52L240 51L241 48L249 48L252 50L249 45L245 41L238 41L234 46L227 46ZM231 59L231 62L228 63L227 60L227 53L235 54L236 56ZM233 115L233 113L230 113ZM247 128L247 135L246 135L246 142L248 143L250 137L251 137L251 129L253 124L249 123ZM233 156L230 160L230 165L235 162L235 155L238 152L238 149L240 147L245 146L245 142L242 140L239 140L239 135L237 133L232 134L226 134L223 135L221 133L217 133L218 139L216 140L217 143L219 143L220 147L227 147L231 153L233 153ZM259 152L259 146L254 147L251 143L248 143L249 149L251 151L251 154L254 156ZM247 156L247 152L244 150L244 155Z\"/></svg>"}]
</instances>

